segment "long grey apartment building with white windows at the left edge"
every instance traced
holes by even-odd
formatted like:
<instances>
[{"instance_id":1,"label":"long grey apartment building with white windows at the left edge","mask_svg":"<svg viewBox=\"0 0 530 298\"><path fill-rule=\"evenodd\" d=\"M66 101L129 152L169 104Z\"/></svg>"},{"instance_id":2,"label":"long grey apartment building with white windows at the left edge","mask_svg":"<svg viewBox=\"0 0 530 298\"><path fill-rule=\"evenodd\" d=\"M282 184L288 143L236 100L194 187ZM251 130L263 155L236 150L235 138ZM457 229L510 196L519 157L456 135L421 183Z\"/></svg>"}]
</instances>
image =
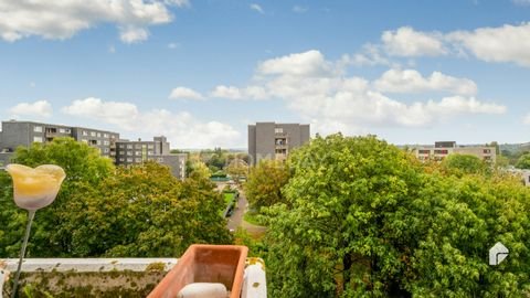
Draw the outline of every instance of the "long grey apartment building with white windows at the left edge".
<instances>
[{"instance_id":1,"label":"long grey apartment building with white windows at the left edge","mask_svg":"<svg viewBox=\"0 0 530 298\"><path fill-rule=\"evenodd\" d=\"M114 160L119 134L99 129L52 125L33 121L2 121L0 151L13 152L17 147L33 142L50 142L57 137L71 137L99 150L102 156Z\"/></svg>"}]
</instances>

